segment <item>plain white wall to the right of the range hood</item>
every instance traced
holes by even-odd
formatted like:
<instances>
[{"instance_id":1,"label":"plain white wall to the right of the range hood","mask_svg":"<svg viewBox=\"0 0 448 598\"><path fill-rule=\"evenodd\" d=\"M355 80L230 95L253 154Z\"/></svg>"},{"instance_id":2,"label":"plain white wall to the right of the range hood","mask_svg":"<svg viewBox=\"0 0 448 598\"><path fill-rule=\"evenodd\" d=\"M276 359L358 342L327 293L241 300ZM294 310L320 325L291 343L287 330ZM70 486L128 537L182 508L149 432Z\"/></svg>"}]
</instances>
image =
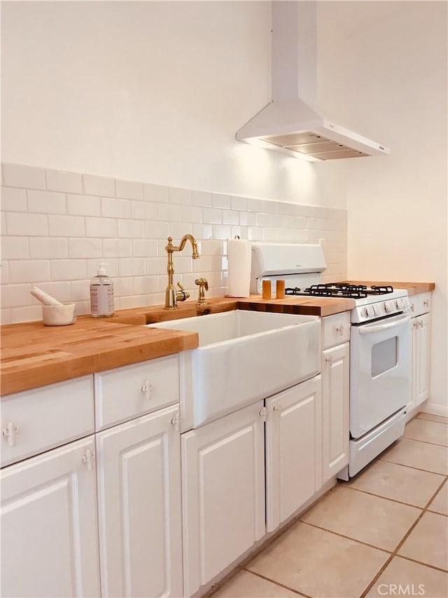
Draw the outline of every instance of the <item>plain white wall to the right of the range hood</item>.
<instances>
[{"instance_id":1,"label":"plain white wall to the right of the range hood","mask_svg":"<svg viewBox=\"0 0 448 598\"><path fill-rule=\"evenodd\" d=\"M350 163L349 276L436 283L430 408L448 414L447 3L321 9L333 107L391 147L388 158ZM352 27L341 40L344 15Z\"/></svg>"}]
</instances>

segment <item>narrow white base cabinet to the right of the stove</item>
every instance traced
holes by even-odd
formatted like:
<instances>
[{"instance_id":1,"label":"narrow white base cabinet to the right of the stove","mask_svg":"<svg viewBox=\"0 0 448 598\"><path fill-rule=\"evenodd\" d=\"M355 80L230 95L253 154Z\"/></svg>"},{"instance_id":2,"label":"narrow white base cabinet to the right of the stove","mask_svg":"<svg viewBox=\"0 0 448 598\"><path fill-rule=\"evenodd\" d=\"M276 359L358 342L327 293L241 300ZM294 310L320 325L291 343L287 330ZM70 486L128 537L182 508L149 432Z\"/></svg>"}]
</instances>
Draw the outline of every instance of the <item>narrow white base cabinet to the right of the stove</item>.
<instances>
[{"instance_id":1,"label":"narrow white base cabinet to the right of the stove","mask_svg":"<svg viewBox=\"0 0 448 598\"><path fill-rule=\"evenodd\" d=\"M412 416L414 409L419 407L429 397L430 293L414 295L409 299L409 303L414 318L410 321L412 334L412 384L407 412Z\"/></svg>"}]
</instances>

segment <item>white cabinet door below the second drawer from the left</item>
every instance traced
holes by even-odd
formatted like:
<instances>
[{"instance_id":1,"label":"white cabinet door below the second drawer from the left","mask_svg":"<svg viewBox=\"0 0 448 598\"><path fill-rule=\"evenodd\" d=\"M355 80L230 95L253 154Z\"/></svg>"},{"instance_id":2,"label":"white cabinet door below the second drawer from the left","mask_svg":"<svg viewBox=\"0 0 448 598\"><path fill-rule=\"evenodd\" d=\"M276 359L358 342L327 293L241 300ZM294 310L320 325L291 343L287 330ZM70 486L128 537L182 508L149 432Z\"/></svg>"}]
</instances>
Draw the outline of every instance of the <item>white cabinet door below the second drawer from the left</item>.
<instances>
[{"instance_id":1,"label":"white cabinet door below the second drawer from the left","mask_svg":"<svg viewBox=\"0 0 448 598\"><path fill-rule=\"evenodd\" d=\"M176 405L97 434L103 597L182 595L178 422Z\"/></svg>"}]
</instances>

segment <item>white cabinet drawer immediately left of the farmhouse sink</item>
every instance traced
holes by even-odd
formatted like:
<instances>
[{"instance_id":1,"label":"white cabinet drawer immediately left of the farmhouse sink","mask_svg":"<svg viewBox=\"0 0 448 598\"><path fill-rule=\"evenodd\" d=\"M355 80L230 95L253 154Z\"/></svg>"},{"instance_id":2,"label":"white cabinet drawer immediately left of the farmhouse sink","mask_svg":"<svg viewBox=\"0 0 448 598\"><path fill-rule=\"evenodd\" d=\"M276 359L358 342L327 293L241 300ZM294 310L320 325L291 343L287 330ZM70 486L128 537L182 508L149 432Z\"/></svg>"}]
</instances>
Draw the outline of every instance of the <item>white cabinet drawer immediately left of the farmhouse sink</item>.
<instances>
[{"instance_id":1,"label":"white cabinet drawer immediately left of the farmhouse sink","mask_svg":"<svg viewBox=\"0 0 448 598\"><path fill-rule=\"evenodd\" d=\"M179 402L179 356L94 374L96 429Z\"/></svg>"}]
</instances>

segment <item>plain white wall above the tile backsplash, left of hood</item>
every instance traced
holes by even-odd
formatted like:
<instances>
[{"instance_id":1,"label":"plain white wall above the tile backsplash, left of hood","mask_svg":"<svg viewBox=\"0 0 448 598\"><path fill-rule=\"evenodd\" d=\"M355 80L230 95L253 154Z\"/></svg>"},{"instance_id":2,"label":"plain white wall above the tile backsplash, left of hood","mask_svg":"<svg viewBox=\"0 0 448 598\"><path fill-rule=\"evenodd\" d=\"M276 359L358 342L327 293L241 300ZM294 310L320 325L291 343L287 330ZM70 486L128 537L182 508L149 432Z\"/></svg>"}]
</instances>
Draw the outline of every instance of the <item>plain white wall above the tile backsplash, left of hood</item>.
<instances>
[{"instance_id":1,"label":"plain white wall above the tile backsplash, left of hood","mask_svg":"<svg viewBox=\"0 0 448 598\"><path fill-rule=\"evenodd\" d=\"M270 3L2 2L2 158L346 208L346 166L235 141L270 100Z\"/></svg>"}]
</instances>

